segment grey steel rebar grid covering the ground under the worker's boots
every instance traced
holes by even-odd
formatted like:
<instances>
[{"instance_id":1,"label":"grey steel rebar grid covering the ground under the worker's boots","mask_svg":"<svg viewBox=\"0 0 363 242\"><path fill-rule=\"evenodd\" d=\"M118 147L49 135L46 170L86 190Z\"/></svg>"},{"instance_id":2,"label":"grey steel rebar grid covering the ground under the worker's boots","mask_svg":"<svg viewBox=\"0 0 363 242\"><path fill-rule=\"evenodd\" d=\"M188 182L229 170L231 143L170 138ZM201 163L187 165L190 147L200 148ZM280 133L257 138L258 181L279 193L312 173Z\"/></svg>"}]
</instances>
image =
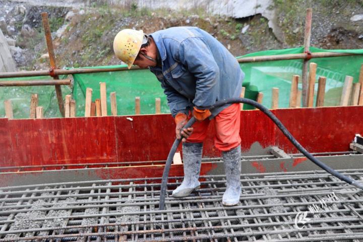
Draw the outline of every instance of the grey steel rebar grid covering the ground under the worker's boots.
<instances>
[{"instance_id":1,"label":"grey steel rebar grid covering the ground under the worker's boots","mask_svg":"<svg viewBox=\"0 0 363 242\"><path fill-rule=\"evenodd\" d=\"M363 177L363 169L342 172ZM163 211L160 178L0 188L0 241L363 239L361 191L323 172L241 175L243 193L234 207L221 204L223 175L203 176L201 189L172 198L182 180L169 178Z\"/></svg>"}]
</instances>

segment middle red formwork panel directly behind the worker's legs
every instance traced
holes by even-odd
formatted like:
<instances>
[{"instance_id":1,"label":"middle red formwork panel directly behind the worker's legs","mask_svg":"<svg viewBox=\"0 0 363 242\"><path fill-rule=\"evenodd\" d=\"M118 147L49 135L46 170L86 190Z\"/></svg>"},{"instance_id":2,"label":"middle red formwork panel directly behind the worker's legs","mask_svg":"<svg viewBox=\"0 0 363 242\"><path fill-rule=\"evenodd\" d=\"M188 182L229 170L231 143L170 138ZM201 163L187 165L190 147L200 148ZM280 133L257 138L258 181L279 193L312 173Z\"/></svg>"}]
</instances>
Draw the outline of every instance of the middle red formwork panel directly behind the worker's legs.
<instances>
[{"instance_id":1,"label":"middle red formwork panel directly behind the worker's legs","mask_svg":"<svg viewBox=\"0 0 363 242\"><path fill-rule=\"evenodd\" d=\"M175 123L169 114L118 116L115 127L118 162L165 160L175 139ZM212 120L203 145L204 157L220 156L214 146L214 136ZM255 142L267 147L274 142L275 127L262 112L244 111L241 113L240 137L243 151L248 151Z\"/></svg>"}]
</instances>

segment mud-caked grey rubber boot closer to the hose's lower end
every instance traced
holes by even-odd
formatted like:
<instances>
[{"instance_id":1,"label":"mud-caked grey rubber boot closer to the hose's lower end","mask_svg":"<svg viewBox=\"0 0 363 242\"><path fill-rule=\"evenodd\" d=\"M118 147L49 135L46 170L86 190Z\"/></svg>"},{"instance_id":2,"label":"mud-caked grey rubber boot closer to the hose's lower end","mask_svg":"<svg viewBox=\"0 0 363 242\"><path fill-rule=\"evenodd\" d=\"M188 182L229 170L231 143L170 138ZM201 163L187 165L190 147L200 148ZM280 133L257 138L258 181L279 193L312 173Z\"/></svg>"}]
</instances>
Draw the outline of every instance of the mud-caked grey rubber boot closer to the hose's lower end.
<instances>
[{"instance_id":1,"label":"mud-caked grey rubber boot closer to the hose's lower end","mask_svg":"<svg viewBox=\"0 0 363 242\"><path fill-rule=\"evenodd\" d=\"M199 173L202 162L203 143L183 143L184 179L173 192L174 198L189 196L200 187Z\"/></svg>"}]
</instances>

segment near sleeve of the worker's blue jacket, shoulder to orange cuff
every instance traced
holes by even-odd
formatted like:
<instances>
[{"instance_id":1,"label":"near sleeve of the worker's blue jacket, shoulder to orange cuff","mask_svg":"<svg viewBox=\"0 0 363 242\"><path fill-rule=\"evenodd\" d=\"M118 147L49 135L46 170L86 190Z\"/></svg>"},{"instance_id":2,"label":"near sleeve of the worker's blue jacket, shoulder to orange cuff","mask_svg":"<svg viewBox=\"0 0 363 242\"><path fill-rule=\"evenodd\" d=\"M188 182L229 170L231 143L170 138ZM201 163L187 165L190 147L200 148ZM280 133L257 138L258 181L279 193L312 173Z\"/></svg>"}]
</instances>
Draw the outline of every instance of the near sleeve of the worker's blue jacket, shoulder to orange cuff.
<instances>
[{"instance_id":1,"label":"near sleeve of the worker's blue jacket, shoulder to orange cuff","mask_svg":"<svg viewBox=\"0 0 363 242\"><path fill-rule=\"evenodd\" d=\"M203 38L185 39L180 43L175 58L196 78L193 104L200 109L213 105L219 92L219 67Z\"/></svg>"}]
</instances>

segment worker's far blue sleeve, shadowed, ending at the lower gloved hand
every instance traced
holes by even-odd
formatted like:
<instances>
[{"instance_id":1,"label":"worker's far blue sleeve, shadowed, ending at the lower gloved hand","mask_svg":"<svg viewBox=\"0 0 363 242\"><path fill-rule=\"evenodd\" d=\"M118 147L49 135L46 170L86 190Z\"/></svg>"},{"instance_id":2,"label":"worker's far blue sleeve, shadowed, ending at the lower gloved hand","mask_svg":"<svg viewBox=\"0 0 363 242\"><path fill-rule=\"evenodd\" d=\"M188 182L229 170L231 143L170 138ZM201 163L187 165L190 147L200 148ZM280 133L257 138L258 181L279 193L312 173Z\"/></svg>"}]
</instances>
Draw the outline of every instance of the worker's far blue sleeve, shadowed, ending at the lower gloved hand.
<instances>
[{"instance_id":1,"label":"worker's far blue sleeve, shadowed, ending at the lower gloved hand","mask_svg":"<svg viewBox=\"0 0 363 242\"><path fill-rule=\"evenodd\" d=\"M161 87L164 89L164 94L170 108L171 115L175 117L178 112L188 115L188 100L186 97L175 91L174 88L168 84L161 82Z\"/></svg>"}]
</instances>

